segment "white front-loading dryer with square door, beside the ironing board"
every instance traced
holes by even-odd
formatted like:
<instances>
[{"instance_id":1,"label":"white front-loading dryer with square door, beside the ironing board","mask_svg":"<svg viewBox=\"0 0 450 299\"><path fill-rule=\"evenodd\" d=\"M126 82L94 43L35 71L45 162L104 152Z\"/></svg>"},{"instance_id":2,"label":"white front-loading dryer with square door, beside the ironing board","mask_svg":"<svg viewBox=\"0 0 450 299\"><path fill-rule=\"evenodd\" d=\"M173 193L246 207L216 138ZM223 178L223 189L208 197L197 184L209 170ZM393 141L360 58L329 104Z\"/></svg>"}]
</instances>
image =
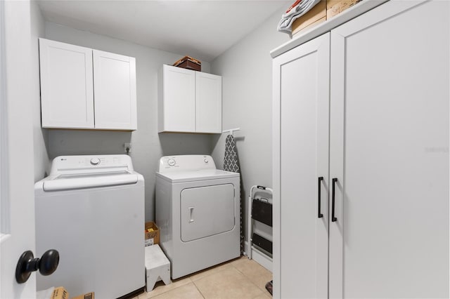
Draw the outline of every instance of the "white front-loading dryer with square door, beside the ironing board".
<instances>
[{"instance_id":1,"label":"white front-loading dryer with square door, beside the ironing board","mask_svg":"<svg viewBox=\"0 0 450 299\"><path fill-rule=\"evenodd\" d=\"M239 192L239 173L210 156L160 159L155 218L172 279L240 256Z\"/></svg>"}]
</instances>

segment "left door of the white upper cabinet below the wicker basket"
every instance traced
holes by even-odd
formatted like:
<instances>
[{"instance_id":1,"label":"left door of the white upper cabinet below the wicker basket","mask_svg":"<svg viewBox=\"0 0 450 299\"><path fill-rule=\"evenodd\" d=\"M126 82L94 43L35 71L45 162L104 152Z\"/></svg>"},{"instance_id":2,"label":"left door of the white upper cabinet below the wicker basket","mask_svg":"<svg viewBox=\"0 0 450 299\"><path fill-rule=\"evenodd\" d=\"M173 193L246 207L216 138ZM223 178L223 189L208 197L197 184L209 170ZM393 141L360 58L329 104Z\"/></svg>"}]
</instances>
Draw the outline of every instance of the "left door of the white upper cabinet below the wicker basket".
<instances>
[{"instance_id":1,"label":"left door of the white upper cabinet below the wicker basket","mask_svg":"<svg viewBox=\"0 0 450 299\"><path fill-rule=\"evenodd\" d=\"M195 132L195 72L163 65L160 84L159 131Z\"/></svg>"}]
</instances>

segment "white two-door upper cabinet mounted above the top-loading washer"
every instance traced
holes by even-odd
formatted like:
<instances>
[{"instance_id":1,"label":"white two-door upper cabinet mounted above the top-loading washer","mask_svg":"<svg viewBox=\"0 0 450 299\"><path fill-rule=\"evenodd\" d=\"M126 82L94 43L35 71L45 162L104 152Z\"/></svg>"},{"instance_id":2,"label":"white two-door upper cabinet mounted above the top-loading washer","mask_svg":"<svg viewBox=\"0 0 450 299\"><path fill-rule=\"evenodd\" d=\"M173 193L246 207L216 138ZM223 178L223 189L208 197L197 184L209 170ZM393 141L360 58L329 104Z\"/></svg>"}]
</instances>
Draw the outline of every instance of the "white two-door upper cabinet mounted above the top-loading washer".
<instances>
[{"instance_id":1,"label":"white two-door upper cabinet mounted above the top-loading washer","mask_svg":"<svg viewBox=\"0 0 450 299\"><path fill-rule=\"evenodd\" d=\"M39 39L43 128L136 130L135 58Z\"/></svg>"}]
</instances>

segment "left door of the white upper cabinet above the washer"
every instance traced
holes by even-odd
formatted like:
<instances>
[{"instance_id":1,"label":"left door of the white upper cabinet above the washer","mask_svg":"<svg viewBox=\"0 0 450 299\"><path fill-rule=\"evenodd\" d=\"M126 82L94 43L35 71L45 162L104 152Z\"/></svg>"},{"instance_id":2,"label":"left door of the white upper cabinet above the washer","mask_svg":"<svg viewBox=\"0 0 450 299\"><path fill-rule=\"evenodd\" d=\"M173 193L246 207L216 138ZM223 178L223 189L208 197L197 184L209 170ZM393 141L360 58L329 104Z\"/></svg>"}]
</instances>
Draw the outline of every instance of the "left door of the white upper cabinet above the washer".
<instances>
[{"instance_id":1,"label":"left door of the white upper cabinet above the washer","mask_svg":"<svg viewBox=\"0 0 450 299\"><path fill-rule=\"evenodd\" d=\"M94 128L92 50L39 39L43 128Z\"/></svg>"}]
</instances>

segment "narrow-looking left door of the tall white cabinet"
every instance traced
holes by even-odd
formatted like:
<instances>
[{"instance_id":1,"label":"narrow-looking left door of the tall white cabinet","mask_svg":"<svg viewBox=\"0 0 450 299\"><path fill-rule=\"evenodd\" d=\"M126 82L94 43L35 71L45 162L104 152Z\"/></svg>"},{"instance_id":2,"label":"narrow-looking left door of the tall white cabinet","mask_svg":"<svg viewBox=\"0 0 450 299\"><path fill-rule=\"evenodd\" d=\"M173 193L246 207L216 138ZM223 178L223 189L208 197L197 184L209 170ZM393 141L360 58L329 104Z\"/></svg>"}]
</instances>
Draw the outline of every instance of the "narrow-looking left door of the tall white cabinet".
<instances>
[{"instance_id":1,"label":"narrow-looking left door of the tall white cabinet","mask_svg":"<svg viewBox=\"0 0 450 299\"><path fill-rule=\"evenodd\" d=\"M328 295L329 35L274 60L275 298Z\"/></svg>"}]
</instances>

